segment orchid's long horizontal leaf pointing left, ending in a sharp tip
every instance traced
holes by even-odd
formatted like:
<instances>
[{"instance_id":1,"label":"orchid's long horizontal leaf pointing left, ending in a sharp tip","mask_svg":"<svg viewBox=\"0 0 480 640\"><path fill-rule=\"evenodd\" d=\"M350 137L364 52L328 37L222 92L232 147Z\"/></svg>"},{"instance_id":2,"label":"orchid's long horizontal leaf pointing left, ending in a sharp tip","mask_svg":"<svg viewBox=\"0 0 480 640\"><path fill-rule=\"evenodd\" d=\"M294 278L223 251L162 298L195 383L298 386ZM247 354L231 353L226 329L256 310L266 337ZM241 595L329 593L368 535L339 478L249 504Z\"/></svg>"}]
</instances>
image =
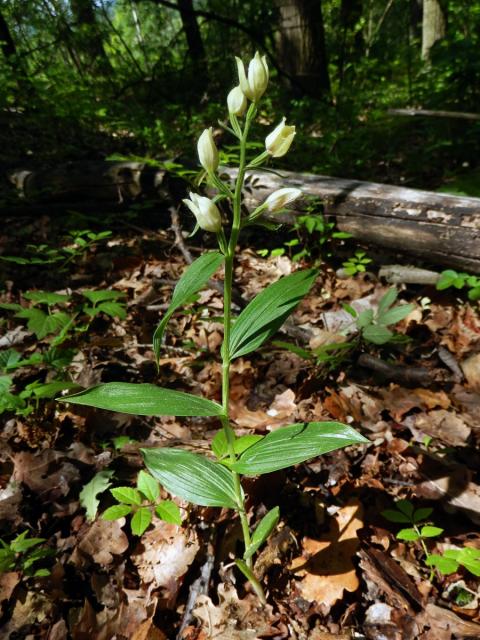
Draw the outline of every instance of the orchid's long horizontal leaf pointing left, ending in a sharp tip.
<instances>
[{"instance_id":1,"label":"orchid's long horizontal leaf pointing left, ending in a sharp tip","mask_svg":"<svg viewBox=\"0 0 480 640\"><path fill-rule=\"evenodd\" d=\"M153 384L107 382L58 400L140 416L223 415L216 402Z\"/></svg>"}]
</instances>

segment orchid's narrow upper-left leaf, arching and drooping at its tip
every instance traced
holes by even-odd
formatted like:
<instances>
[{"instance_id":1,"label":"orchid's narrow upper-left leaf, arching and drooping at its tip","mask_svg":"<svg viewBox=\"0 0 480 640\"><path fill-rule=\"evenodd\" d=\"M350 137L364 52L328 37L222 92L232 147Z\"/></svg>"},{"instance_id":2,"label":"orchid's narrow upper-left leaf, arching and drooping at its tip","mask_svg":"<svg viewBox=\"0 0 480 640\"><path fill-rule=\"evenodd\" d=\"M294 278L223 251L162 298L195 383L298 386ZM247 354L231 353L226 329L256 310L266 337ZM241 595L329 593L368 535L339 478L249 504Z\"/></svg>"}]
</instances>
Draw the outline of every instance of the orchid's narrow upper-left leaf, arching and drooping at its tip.
<instances>
[{"instance_id":1,"label":"orchid's narrow upper-left leaf, arching and drooping at its tip","mask_svg":"<svg viewBox=\"0 0 480 640\"><path fill-rule=\"evenodd\" d=\"M186 271L177 282L177 286L173 291L170 306L153 334L153 351L155 353L157 363L160 358L163 334L171 316L178 307L185 304L194 293L200 291L208 280L210 280L222 262L223 255L218 251L204 253L192 262L189 267L187 267Z\"/></svg>"}]
</instances>

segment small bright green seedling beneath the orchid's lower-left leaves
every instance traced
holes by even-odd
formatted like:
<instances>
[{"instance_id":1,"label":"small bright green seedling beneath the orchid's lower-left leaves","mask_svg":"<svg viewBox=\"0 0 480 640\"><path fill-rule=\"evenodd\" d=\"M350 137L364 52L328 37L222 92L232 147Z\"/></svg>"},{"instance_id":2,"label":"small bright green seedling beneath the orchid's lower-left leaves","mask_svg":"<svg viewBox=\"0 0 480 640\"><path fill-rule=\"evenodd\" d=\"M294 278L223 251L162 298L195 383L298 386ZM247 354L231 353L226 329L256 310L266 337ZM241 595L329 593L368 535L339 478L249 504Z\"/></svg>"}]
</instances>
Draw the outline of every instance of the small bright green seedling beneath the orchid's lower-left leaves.
<instances>
[{"instance_id":1,"label":"small bright green seedling beneath the orchid's lower-left leaves","mask_svg":"<svg viewBox=\"0 0 480 640\"><path fill-rule=\"evenodd\" d=\"M130 528L136 536L145 533L152 522L153 512L157 516L180 526L182 516L178 505L173 500L160 500L160 485L149 473L140 471L137 478L137 488L117 487L110 489L110 493L119 504L109 507L103 512L104 520L118 520L131 515Z\"/></svg>"}]
</instances>

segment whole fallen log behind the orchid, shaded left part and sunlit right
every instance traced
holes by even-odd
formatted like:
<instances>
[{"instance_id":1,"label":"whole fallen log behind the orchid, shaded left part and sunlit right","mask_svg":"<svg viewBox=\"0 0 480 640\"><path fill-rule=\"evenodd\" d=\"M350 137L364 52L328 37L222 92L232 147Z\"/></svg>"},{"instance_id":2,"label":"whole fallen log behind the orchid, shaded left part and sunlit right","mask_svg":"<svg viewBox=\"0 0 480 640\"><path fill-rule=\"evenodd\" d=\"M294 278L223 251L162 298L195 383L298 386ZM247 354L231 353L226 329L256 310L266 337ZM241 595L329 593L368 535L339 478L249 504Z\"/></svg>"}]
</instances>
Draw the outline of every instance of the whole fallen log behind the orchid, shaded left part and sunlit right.
<instances>
[{"instance_id":1,"label":"whole fallen log behind the orchid, shaded left part and sunlit right","mask_svg":"<svg viewBox=\"0 0 480 640\"><path fill-rule=\"evenodd\" d=\"M235 170L223 169L230 178ZM139 197L171 198L178 202L186 183L165 169L141 162L68 163L58 169L17 171L10 175L22 194L21 215L32 214L39 203L44 213L80 209L96 203L97 211L111 205L125 206ZM407 189L387 184L361 182L308 173L282 172L281 176L260 170L248 172L247 204L261 202L282 186L299 187L306 196L321 200L324 213L336 219L342 231L367 244L379 245L423 262L480 273L480 198ZM180 187L180 189L179 189ZM298 202L298 201L297 201ZM50 203L50 206L49 206ZM20 203L19 203L20 204ZM291 223L305 213L306 199L290 214L275 216ZM15 215L16 207L6 209Z\"/></svg>"}]
</instances>

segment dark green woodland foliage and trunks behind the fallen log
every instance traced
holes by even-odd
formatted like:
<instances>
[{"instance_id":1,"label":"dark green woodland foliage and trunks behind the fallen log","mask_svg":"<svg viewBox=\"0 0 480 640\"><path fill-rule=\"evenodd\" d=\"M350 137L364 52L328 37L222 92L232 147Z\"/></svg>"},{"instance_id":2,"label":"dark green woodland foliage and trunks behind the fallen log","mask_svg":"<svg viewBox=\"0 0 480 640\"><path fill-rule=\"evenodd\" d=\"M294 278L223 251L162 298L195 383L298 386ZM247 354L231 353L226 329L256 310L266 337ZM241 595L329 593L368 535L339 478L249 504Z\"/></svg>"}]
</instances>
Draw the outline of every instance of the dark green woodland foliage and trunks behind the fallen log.
<instances>
[{"instance_id":1,"label":"dark green woodland foliage and trunks behind the fallen log","mask_svg":"<svg viewBox=\"0 0 480 640\"><path fill-rule=\"evenodd\" d=\"M445 29L425 59L428 1ZM189 156L198 131L224 117L233 55L259 49L276 76L265 124L298 125L296 168L478 191L479 121L389 109L476 110L480 2L11 0L0 27L8 167L25 155Z\"/></svg>"}]
</instances>

